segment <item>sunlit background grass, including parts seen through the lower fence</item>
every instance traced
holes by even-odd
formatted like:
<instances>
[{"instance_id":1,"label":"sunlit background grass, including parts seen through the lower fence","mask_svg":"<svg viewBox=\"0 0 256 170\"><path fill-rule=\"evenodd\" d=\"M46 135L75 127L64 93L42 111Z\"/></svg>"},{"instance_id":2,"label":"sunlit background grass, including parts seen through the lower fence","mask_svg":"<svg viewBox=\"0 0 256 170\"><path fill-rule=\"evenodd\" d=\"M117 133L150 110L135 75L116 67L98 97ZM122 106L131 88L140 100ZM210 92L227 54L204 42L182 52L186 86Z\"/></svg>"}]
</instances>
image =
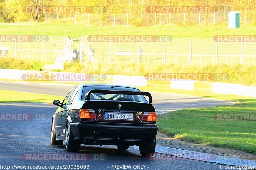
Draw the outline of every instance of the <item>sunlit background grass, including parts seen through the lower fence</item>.
<instances>
[{"instance_id":1,"label":"sunlit background grass, including parts seen through the lower fence","mask_svg":"<svg viewBox=\"0 0 256 170\"><path fill-rule=\"evenodd\" d=\"M40 28L40 29L38 29ZM215 46L213 41L214 35L253 35L256 26L241 26L238 29L228 29L227 26L81 26L69 23L24 23L24 24L0 24L0 31L2 35L47 35L49 41L44 42L44 50L57 50L55 55L59 55L63 50L63 38L78 38L85 35L171 35L173 40L166 43L166 62L175 63L175 55L168 54L180 54L177 57L177 63L188 63L188 56L190 54L190 41L192 41L192 63L199 64L199 55L201 56L201 63L212 63L214 56L216 55ZM73 43L73 48L76 48L76 43ZM89 42L86 38L83 39L85 46L89 46ZM14 49L13 42L1 42L0 45L8 45L9 48ZM98 62L108 62L109 43L108 42L92 42L92 47L95 49L95 58ZM161 42L140 42L140 47L143 49L143 53L154 53L150 55L150 62L162 63L162 55L164 53L164 43ZM21 59L34 59L41 60L41 42L25 42L17 43L18 49L37 49L39 51L24 51L20 50L17 54L17 58ZM240 62L240 43L218 43L218 62L226 63L226 55L237 55L228 58L228 63ZM118 56L115 54L116 50L131 50L132 53L137 53L136 42L112 42L111 43L111 61L118 61L123 63L133 63L133 55L130 56ZM243 44L243 55L254 55L256 49L253 43ZM54 52L47 51L44 53L44 60L54 60ZM8 52L8 56L14 56L14 50ZM142 55L142 61L148 61L148 55ZM135 54L135 62L136 54ZM244 57L243 63L252 64L253 57Z\"/></svg>"}]
</instances>

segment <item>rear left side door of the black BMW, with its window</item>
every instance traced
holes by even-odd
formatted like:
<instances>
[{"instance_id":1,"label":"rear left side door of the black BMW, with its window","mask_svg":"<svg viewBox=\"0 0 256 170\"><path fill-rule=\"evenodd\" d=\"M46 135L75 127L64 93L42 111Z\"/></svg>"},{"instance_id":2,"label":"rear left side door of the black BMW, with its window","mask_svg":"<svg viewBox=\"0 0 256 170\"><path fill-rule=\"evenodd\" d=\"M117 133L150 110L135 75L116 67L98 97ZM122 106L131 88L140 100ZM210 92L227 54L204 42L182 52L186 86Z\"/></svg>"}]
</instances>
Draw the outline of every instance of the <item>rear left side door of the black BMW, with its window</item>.
<instances>
[{"instance_id":1,"label":"rear left side door of the black BMW, with its window","mask_svg":"<svg viewBox=\"0 0 256 170\"><path fill-rule=\"evenodd\" d=\"M61 127L62 127L62 135L65 135L65 129L66 129L66 122L67 122L67 117L69 114L70 107L72 106L71 103L78 92L79 87L75 87L72 89L72 92L70 93L70 96L67 96L68 99L65 100L65 106L62 107L62 113L61 113Z\"/></svg>"}]
</instances>

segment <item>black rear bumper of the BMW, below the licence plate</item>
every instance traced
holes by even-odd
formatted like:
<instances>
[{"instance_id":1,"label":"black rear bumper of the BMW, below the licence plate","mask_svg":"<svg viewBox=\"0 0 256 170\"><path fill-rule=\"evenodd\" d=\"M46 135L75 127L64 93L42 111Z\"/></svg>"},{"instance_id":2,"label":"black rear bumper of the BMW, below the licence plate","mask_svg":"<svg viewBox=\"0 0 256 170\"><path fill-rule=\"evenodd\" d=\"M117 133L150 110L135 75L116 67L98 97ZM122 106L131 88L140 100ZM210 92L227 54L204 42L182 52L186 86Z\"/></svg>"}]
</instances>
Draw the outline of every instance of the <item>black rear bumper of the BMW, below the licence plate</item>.
<instances>
[{"instance_id":1,"label":"black rear bumper of the BMW, below the licence plate","mask_svg":"<svg viewBox=\"0 0 256 170\"><path fill-rule=\"evenodd\" d=\"M70 123L75 139L86 145L140 145L153 142L156 138L157 126L107 125L94 123ZM94 142L86 142L93 138Z\"/></svg>"}]
</instances>

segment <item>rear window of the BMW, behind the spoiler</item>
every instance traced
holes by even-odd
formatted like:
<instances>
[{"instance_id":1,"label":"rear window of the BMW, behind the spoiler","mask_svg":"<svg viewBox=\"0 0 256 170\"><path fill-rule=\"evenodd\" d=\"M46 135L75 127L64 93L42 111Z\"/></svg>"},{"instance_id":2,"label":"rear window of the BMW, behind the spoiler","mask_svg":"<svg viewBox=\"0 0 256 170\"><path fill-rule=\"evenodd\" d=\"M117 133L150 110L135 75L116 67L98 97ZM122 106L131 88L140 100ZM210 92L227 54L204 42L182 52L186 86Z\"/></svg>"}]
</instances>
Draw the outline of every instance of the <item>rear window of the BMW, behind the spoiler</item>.
<instances>
[{"instance_id":1,"label":"rear window of the BMW, behind the spoiler","mask_svg":"<svg viewBox=\"0 0 256 170\"><path fill-rule=\"evenodd\" d=\"M116 87L111 88L111 86L85 86L82 92L82 99L85 100L85 95L87 96L88 92L94 89L100 90L117 90L117 91L135 91L139 92L138 89L128 88L128 87ZM87 98L87 97L86 97ZM103 93L92 93L90 100L116 100L116 101L134 101L134 102L143 102L148 103L146 98L142 95L127 95L127 94L103 94Z\"/></svg>"}]
</instances>

